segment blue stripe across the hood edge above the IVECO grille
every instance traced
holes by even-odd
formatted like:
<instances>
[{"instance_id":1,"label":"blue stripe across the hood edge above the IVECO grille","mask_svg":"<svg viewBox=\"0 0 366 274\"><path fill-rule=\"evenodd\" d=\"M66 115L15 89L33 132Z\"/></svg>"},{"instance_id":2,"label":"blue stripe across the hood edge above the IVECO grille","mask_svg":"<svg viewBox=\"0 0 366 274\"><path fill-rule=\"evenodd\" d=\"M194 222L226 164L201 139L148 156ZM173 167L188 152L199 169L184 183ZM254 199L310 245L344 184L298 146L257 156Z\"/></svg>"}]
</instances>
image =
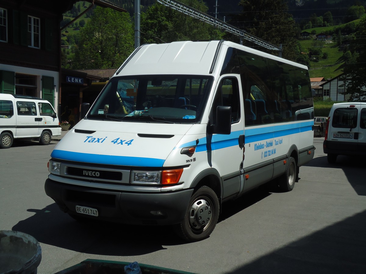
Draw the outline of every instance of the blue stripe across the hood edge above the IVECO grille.
<instances>
[{"instance_id":1,"label":"blue stripe across the hood edge above the IVECO grille","mask_svg":"<svg viewBox=\"0 0 366 274\"><path fill-rule=\"evenodd\" d=\"M91 153L63 151L59 149L53 150L51 153L51 157L69 161L84 162L84 163L130 165L138 167L162 167L165 162L165 159L100 155Z\"/></svg>"}]
</instances>

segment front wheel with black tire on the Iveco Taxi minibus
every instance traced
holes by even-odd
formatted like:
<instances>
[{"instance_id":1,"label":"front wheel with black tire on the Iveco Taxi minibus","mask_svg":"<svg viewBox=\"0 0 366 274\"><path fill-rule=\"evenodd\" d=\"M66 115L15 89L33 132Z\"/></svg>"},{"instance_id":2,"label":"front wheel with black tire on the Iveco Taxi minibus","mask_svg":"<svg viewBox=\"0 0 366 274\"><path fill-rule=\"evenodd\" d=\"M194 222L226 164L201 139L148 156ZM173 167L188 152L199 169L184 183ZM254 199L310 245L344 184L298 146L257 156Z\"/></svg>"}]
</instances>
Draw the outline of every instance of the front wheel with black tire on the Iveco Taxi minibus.
<instances>
[{"instance_id":1,"label":"front wheel with black tire on the Iveco Taxi minibus","mask_svg":"<svg viewBox=\"0 0 366 274\"><path fill-rule=\"evenodd\" d=\"M206 239L219 220L220 204L216 193L202 186L191 197L184 220L176 225L175 232L186 241Z\"/></svg>"}]
</instances>

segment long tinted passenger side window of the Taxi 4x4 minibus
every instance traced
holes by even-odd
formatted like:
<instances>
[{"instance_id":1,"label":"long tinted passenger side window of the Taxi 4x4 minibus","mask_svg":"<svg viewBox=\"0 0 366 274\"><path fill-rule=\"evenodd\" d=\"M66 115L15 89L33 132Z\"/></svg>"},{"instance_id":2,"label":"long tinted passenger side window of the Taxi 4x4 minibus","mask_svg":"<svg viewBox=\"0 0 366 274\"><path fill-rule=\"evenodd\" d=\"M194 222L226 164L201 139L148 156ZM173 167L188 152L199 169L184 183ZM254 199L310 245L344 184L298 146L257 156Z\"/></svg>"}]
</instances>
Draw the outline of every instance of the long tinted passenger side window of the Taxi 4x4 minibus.
<instances>
[{"instance_id":1,"label":"long tinted passenger side window of the Taxi 4x4 minibus","mask_svg":"<svg viewBox=\"0 0 366 274\"><path fill-rule=\"evenodd\" d=\"M236 55L246 125L314 118L313 97L306 69L241 50L237 50Z\"/></svg>"}]
</instances>

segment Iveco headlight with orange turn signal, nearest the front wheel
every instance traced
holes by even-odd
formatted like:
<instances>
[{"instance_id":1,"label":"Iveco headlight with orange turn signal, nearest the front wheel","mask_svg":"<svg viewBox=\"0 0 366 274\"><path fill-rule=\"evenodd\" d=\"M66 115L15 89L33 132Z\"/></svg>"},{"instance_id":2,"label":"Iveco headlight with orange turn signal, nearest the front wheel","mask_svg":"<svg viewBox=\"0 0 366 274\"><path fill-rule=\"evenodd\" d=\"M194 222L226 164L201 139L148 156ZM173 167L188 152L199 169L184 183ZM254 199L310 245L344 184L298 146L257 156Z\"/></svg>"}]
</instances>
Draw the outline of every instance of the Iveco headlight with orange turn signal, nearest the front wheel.
<instances>
[{"instance_id":1,"label":"Iveco headlight with orange turn signal, nearest the front wheel","mask_svg":"<svg viewBox=\"0 0 366 274\"><path fill-rule=\"evenodd\" d=\"M182 176L183 168L163 171L139 171L132 170L132 184L178 184Z\"/></svg>"}]
</instances>

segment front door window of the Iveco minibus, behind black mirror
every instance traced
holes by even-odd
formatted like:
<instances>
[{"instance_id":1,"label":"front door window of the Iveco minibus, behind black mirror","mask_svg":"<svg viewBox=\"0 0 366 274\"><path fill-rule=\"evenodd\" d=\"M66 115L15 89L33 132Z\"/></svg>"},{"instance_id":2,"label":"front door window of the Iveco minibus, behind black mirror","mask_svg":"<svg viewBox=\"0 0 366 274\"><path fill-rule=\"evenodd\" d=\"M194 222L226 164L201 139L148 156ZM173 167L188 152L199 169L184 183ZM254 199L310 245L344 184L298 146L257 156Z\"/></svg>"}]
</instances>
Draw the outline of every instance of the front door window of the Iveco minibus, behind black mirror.
<instances>
[{"instance_id":1,"label":"front door window of the Iveco minibus, behind black mirror","mask_svg":"<svg viewBox=\"0 0 366 274\"><path fill-rule=\"evenodd\" d=\"M212 121L216 121L216 109L218 106L231 107L231 123L236 123L240 120L239 86L238 80L235 77L227 77L221 80L211 109Z\"/></svg>"}]
</instances>

